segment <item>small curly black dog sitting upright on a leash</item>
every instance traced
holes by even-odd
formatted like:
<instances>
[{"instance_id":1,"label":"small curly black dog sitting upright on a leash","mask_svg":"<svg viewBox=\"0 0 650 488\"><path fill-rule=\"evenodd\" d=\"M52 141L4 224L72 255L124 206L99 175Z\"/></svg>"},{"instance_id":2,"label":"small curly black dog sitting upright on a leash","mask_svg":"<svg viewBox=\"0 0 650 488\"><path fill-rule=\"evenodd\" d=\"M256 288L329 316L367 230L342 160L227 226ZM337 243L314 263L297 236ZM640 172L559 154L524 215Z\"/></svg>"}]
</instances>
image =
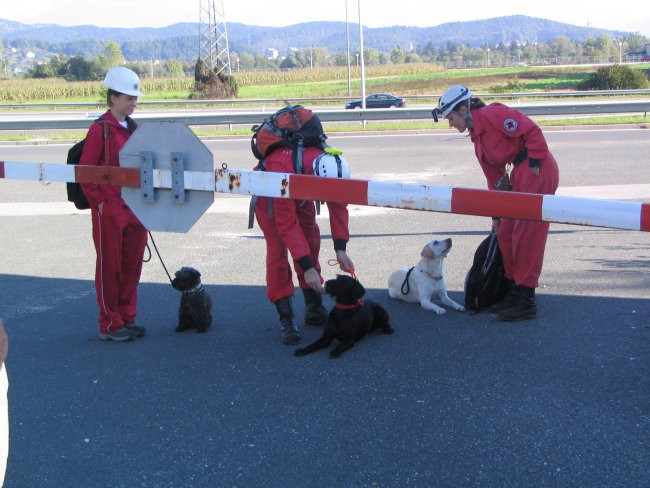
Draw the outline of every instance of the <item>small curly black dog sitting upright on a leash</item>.
<instances>
[{"instance_id":1,"label":"small curly black dog sitting upright on a leash","mask_svg":"<svg viewBox=\"0 0 650 488\"><path fill-rule=\"evenodd\" d=\"M207 332L212 325L212 298L201 284L201 273L189 266L183 266L174 276L172 286L181 292L176 332L188 329Z\"/></svg>"}]
</instances>

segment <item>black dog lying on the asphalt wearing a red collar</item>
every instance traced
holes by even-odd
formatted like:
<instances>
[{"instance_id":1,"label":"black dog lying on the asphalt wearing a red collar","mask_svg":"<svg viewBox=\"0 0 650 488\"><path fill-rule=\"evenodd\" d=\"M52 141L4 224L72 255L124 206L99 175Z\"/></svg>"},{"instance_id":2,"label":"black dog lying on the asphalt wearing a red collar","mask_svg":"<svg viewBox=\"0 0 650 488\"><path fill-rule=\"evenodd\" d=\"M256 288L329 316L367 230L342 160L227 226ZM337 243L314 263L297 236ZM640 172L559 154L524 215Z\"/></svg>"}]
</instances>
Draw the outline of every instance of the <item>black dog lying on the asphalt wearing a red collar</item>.
<instances>
[{"instance_id":1,"label":"black dog lying on the asphalt wearing a red collar","mask_svg":"<svg viewBox=\"0 0 650 488\"><path fill-rule=\"evenodd\" d=\"M329 313L323 335L307 347L297 349L295 356L324 349L338 339L340 344L330 353L331 358L338 358L371 330L381 329L384 334L395 332L386 310L372 300L364 300L366 290L354 278L337 275L335 280L325 282L325 291L335 298L336 305Z\"/></svg>"}]
</instances>

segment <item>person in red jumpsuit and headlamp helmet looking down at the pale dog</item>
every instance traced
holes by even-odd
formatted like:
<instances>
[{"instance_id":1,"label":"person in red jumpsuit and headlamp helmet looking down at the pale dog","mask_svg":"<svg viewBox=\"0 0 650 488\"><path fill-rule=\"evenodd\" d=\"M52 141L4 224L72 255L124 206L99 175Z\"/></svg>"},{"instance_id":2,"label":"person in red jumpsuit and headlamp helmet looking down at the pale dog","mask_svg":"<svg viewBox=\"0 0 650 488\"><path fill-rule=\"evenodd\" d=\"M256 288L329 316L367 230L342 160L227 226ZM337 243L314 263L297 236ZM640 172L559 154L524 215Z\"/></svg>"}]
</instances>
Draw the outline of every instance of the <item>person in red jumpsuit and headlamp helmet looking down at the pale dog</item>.
<instances>
[{"instance_id":1,"label":"person in red jumpsuit and headlamp helmet looking down at the pale dog","mask_svg":"<svg viewBox=\"0 0 650 488\"><path fill-rule=\"evenodd\" d=\"M500 103L486 105L462 85L454 85L442 95L434 119L437 114L458 132L469 131L488 188L500 189L498 182L512 167L511 191L555 194L559 184L557 162L541 129L529 117ZM492 308L499 320L514 322L537 316L535 288L548 230L548 222L493 219L510 284L506 297Z\"/></svg>"}]
</instances>

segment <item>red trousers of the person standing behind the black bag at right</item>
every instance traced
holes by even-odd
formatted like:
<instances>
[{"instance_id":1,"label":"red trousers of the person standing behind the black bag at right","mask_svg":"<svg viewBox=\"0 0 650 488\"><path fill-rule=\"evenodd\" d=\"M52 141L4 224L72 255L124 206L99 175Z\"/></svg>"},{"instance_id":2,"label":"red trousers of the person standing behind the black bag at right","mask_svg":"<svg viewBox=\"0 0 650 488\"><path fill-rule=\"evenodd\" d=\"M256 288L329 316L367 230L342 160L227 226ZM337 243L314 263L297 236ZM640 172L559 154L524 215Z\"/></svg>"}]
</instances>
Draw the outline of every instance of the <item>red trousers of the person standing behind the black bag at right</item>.
<instances>
[{"instance_id":1,"label":"red trousers of the person standing behind the black bag at right","mask_svg":"<svg viewBox=\"0 0 650 488\"><path fill-rule=\"evenodd\" d=\"M549 153L540 164L539 175L536 175L524 161L512 170L510 180L512 191L553 195L559 184L557 163ZM537 288L548 230L548 222L501 219L497 236L506 278L516 285Z\"/></svg>"}]
</instances>

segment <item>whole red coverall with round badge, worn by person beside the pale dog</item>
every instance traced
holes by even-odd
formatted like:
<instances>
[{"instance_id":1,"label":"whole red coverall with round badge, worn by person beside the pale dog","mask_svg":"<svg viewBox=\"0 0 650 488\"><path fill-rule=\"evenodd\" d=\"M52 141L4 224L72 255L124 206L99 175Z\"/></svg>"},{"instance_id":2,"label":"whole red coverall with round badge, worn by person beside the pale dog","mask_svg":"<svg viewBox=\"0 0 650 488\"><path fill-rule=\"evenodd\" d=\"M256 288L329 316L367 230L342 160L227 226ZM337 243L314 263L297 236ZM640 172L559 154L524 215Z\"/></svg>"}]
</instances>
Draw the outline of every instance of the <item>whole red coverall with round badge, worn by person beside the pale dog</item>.
<instances>
[{"instance_id":1,"label":"whole red coverall with round badge, worn by person beside the pale dog","mask_svg":"<svg viewBox=\"0 0 650 488\"><path fill-rule=\"evenodd\" d=\"M472 110L472 123L470 137L488 188L496 189L506 166L521 155L523 161L510 173L512 191L555 194L559 184L557 162L535 122L518 110L493 103ZM537 165L539 175L531 170ZM501 220L497 236L505 274L516 285L537 288L548 229L548 222Z\"/></svg>"}]
</instances>

